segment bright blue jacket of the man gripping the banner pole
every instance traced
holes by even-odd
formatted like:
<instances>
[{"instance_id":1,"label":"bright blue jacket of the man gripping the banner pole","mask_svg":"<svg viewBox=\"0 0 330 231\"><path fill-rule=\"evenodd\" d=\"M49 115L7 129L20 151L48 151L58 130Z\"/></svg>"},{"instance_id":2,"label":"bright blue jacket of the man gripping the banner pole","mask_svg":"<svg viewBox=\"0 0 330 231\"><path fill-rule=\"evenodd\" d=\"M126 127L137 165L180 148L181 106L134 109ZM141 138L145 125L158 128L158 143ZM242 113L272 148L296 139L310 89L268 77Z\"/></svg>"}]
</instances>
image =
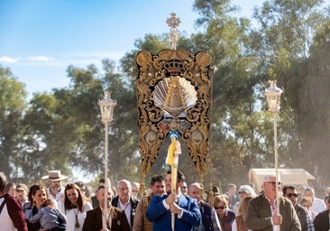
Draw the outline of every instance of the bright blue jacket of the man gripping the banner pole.
<instances>
[{"instance_id":1,"label":"bright blue jacket of the man gripping the banner pole","mask_svg":"<svg viewBox=\"0 0 330 231\"><path fill-rule=\"evenodd\" d=\"M153 231L171 231L171 212L162 204L165 196L153 196L147 209L146 217L153 222ZM185 197L182 194L177 202L183 208L182 217L175 215L175 230L191 231L193 226L200 226L202 216L198 208L197 200Z\"/></svg>"}]
</instances>

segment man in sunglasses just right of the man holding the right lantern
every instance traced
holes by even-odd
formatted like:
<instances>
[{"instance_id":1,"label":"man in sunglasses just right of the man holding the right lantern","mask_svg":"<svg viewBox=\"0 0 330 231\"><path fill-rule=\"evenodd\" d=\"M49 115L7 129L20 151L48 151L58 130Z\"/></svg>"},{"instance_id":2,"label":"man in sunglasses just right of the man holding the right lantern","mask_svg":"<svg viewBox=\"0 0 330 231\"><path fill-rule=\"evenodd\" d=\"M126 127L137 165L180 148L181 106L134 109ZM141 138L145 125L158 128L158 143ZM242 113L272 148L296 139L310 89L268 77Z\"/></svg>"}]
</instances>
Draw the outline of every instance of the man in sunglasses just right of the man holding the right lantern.
<instances>
[{"instance_id":1,"label":"man in sunglasses just right of the man holding the right lantern","mask_svg":"<svg viewBox=\"0 0 330 231\"><path fill-rule=\"evenodd\" d=\"M314 231L314 225L312 217L310 217L306 208L303 208L298 204L298 189L294 185L288 185L283 187L283 196L291 200L293 207L298 215L301 231Z\"/></svg>"}]
</instances>

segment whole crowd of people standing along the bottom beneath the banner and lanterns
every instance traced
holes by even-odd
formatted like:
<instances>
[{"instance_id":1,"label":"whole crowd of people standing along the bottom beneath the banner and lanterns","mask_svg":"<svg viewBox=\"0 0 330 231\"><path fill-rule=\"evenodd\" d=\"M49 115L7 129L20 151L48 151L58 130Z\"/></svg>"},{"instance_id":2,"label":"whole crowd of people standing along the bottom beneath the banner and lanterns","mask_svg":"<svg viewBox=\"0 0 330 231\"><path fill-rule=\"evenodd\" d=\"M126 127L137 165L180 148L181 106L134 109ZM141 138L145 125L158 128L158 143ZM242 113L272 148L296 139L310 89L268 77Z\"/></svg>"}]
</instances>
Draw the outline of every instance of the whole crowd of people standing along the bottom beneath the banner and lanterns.
<instances>
[{"instance_id":1,"label":"whole crowd of people standing along the bottom beneath the banner and lanterns","mask_svg":"<svg viewBox=\"0 0 330 231\"><path fill-rule=\"evenodd\" d=\"M84 182L63 186L69 177L49 171L32 184L7 182L0 172L1 231L328 231L330 188L318 199L309 187L282 185L274 174L265 175L262 191L252 185L228 184L225 193L214 187L203 197L203 185L187 184L178 171L151 177L147 195L138 182L100 179L91 193ZM175 189L173 188L175 186ZM280 195L278 195L280 192Z\"/></svg>"}]
</instances>

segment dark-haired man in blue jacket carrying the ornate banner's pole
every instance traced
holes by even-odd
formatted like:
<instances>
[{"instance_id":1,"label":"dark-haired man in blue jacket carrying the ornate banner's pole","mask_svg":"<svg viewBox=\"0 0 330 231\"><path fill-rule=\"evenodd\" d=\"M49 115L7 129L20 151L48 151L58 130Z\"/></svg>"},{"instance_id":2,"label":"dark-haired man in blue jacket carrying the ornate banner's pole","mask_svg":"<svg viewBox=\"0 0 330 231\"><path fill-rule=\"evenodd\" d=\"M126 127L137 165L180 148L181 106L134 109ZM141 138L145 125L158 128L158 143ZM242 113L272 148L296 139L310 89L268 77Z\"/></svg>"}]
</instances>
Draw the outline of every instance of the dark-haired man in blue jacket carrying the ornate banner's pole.
<instances>
[{"instance_id":1,"label":"dark-haired man in blue jacket carrying the ornate banner's pole","mask_svg":"<svg viewBox=\"0 0 330 231\"><path fill-rule=\"evenodd\" d=\"M171 174L171 173L168 173ZM169 178L167 178L169 179ZM153 231L191 231L200 226L202 217L196 199L180 193L185 176L178 171L176 192L165 196L153 196L146 217L153 222ZM171 213L174 214L174 229L171 226Z\"/></svg>"}]
</instances>

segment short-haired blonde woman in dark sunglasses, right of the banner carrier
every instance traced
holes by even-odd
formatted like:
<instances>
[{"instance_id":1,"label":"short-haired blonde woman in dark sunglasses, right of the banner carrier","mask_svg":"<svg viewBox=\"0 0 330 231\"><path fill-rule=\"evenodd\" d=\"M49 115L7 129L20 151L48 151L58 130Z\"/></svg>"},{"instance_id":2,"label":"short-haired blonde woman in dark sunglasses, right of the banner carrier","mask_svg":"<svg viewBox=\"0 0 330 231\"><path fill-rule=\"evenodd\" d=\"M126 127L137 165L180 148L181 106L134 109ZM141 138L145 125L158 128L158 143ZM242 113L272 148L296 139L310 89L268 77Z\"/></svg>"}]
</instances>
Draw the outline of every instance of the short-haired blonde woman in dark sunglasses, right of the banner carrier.
<instances>
[{"instance_id":1,"label":"short-haired blonde woman in dark sunglasses, right of the banner carrier","mask_svg":"<svg viewBox=\"0 0 330 231\"><path fill-rule=\"evenodd\" d=\"M213 205L220 222L221 230L232 231L235 213L228 208L228 199L224 195L217 195L213 199Z\"/></svg>"}]
</instances>

